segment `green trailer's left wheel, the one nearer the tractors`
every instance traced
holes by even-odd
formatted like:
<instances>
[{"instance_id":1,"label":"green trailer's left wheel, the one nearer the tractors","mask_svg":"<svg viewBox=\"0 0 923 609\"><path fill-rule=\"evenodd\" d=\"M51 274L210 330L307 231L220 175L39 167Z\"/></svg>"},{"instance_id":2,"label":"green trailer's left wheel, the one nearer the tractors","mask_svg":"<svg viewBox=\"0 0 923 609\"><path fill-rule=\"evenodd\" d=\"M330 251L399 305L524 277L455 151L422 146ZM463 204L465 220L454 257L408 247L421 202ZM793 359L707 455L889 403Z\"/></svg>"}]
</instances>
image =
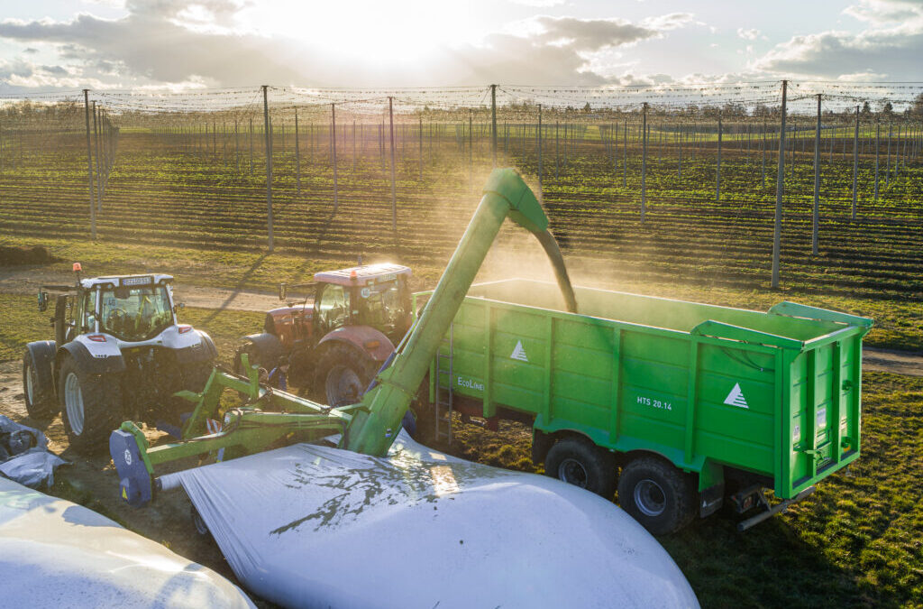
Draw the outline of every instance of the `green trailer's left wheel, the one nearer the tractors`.
<instances>
[{"instance_id":1,"label":"green trailer's left wheel, the one nearer the tractors","mask_svg":"<svg viewBox=\"0 0 923 609\"><path fill-rule=\"evenodd\" d=\"M558 440L545 457L545 475L605 499L616 493L616 457L586 438Z\"/></svg>"}]
</instances>

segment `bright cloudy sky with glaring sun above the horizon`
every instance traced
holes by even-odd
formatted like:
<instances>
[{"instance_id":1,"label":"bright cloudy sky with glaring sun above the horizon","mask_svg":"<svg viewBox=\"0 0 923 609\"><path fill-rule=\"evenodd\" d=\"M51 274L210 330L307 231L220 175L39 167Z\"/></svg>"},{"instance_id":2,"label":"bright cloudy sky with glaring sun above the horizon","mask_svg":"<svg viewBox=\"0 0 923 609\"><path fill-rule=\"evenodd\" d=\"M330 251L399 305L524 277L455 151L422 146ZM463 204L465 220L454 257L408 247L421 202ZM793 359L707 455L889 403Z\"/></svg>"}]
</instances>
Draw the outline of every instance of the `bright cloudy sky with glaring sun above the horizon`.
<instances>
[{"instance_id":1,"label":"bright cloudy sky with glaring sun above the horizon","mask_svg":"<svg viewBox=\"0 0 923 609\"><path fill-rule=\"evenodd\" d=\"M0 91L923 80L923 0L0 6Z\"/></svg>"}]
</instances>

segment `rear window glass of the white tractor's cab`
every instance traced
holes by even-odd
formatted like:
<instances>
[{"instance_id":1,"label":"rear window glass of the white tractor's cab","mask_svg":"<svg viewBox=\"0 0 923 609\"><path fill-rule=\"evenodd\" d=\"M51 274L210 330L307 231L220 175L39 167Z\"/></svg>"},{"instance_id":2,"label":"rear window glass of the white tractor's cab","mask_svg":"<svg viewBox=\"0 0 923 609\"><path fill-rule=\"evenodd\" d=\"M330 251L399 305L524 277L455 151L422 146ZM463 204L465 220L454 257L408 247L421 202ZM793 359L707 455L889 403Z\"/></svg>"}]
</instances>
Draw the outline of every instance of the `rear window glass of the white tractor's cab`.
<instances>
[{"instance_id":1,"label":"rear window glass of the white tractor's cab","mask_svg":"<svg viewBox=\"0 0 923 609\"><path fill-rule=\"evenodd\" d=\"M102 290L101 329L122 340L148 340L173 324L165 286Z\"/></svg>"}]
</instances>

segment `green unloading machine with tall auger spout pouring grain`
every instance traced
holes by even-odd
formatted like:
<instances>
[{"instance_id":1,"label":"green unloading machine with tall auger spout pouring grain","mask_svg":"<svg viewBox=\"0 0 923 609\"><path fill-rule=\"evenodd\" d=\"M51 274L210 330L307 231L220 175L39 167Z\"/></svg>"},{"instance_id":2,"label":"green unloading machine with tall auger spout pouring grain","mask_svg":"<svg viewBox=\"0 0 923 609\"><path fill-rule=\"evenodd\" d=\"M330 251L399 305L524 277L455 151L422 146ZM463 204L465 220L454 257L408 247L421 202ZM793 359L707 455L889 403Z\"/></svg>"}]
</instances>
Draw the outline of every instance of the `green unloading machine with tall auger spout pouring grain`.
<instances>
[{"instance_id":1,"label":"green unloading machine with tall auger spout pouring grain","mask_svg":"<svg viewBox=\"0 0 923 609\"><path fill-rule=\"evenodd\" d=\"M568 310L575 312L573 288L557 242L547 231L548 219L541 204L515 171L495 170L426 308L361 400L329 406L261 385L258 371L249 365L244 353L242 370L246 379L216 370L201 393L177 394L195 403L192 415L183 425L183 440L150 447L143 432L131 421L112 433L110 453L118 471L122 497L129 504L144 505L156 487L152 479L154 466L217 451L222 451L222 457L228 459L259 452L283 441L310 441L341 433L342 448L377 457L386 455L443 336L508 217L538 238L555 269ZM225 388L244 394L246 403L224 412L221 431L208 433L208 421L218 416Z\"/></svg>"}]
</instances>

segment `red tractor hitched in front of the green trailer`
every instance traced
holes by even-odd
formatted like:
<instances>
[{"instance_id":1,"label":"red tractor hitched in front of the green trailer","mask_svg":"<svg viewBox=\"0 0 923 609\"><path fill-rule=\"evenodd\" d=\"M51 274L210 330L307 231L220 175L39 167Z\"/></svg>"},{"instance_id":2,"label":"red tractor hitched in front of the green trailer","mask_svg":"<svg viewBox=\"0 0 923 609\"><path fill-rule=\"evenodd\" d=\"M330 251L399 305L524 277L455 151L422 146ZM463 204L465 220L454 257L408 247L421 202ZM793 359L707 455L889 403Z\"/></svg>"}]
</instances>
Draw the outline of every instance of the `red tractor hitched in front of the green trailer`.
<instances>
[{"instance_id":1,"label":"red tractor hitched in front of the green trailer","mask_svg":"<svg viewBox=\"0 0 923 609\"><path fill-rule=\"evenodd\" d=\"M245 337L240 353L266 371L270 384L309 384L318 401L336 407L358 401L412 322L410 268L366 264L314 275L279 288L285 307L266 314L261 334ZM289 290L307 297L289 300Z\"/></svg>"}]
</instances>

